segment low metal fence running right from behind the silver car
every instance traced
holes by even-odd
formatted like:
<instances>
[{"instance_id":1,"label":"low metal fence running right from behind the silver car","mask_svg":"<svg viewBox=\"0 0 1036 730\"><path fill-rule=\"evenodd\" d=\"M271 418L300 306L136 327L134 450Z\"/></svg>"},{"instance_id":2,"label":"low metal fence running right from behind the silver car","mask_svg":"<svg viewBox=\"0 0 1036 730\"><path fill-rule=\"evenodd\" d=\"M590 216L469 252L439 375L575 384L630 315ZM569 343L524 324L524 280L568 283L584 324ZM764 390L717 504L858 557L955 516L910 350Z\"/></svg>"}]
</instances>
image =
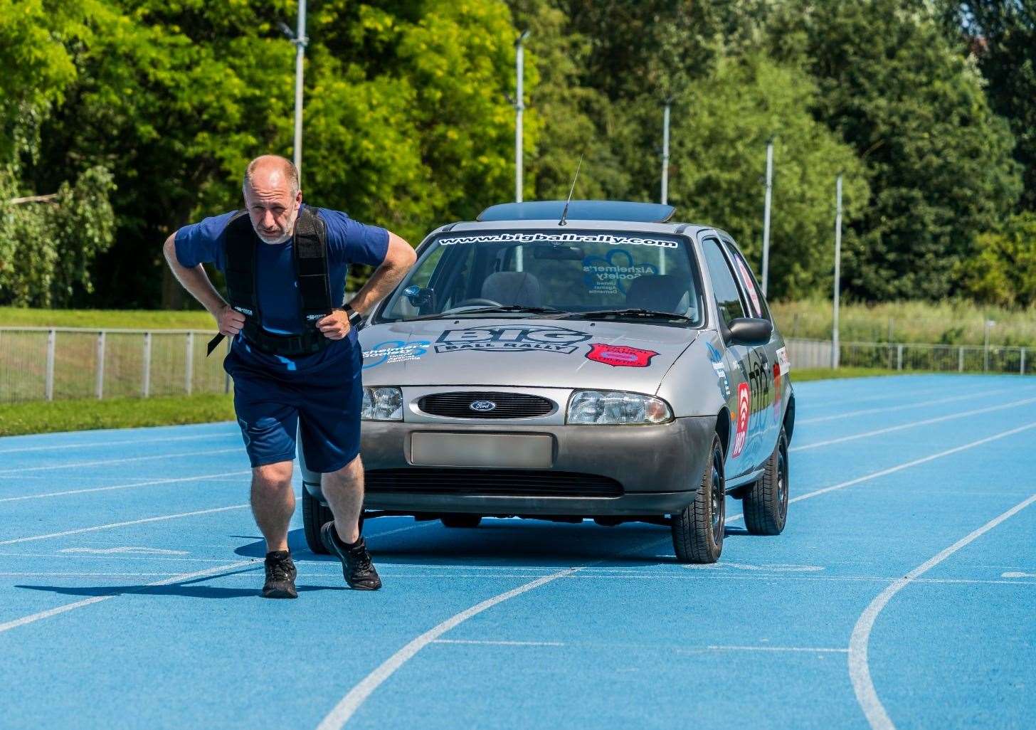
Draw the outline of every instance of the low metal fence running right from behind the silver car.
<instances>
[{"instance_id":1,"label":"low metal fence running right from behind the silver car","mask_svg":"<svg viewBox=\"0 0 1036 730\"><path fill-rule=\"evenodd\" d=\"M831 348L830 340L787 340L788 358L799 369L830 368ZM1032 348L843 342L838 362L842 368L1025 375L1032 372Z\"/></svg>"}]
</instances>

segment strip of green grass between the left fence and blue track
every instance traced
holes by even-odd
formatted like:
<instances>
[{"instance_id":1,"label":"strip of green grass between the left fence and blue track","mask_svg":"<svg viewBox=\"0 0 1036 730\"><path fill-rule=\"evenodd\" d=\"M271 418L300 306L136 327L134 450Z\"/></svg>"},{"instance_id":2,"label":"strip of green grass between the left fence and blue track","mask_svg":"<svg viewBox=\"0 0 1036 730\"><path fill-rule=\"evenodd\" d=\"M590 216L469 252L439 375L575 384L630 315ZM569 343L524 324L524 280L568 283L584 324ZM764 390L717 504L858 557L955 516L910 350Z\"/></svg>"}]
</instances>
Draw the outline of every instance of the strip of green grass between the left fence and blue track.
<instances>
[{"instance_id":1,"label":"strip of green grass between the left fence and blue track","mask_svg":"<svg viewBox=\"0 0 1036 730\"><path fill-rule=\"evenodd\" d=\"M233 420L233 400L205 393L0 405L0 436Z\"/></svg>"}]
</instances>

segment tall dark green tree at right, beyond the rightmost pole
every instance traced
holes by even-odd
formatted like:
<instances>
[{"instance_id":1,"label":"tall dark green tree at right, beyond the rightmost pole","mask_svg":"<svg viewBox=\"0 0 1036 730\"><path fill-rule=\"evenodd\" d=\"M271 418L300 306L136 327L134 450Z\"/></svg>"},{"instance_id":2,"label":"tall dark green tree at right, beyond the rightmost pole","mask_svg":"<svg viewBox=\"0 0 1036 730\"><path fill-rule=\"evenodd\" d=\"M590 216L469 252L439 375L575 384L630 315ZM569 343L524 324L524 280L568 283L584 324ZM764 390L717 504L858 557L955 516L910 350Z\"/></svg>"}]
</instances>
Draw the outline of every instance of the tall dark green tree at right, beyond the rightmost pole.
<instances>
[{"instance_id":1,"label":"tall dark green tree at right, beyond the rightmost pole","mask_svg":"<svg viewBox=\"0 0 1036 730\"><path fill-rule=\"evenodd\" d=\"M865 159L871 195L844 251L863 299L952 293L955 265L1020 189L1007 124L927 7L798 0L771 28L775 55L816 80L816 116Z\"/></svg>"}]
</instances>

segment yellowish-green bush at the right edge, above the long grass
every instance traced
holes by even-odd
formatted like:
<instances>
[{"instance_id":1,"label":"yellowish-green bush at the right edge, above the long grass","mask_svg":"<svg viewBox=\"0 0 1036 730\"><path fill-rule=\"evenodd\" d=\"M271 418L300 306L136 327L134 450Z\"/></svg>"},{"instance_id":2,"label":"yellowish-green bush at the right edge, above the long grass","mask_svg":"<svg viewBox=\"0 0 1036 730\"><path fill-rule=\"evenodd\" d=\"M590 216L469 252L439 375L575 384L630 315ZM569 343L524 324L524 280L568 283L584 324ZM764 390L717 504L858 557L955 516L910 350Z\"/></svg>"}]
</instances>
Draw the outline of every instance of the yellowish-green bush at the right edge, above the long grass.
<instances>
[{"instance_id":1,"label":"yellowish-green bush at the right edge, above the long grass","mask_svg":"<svg viewBox=\"0 0 1036 730\"><path fill-rule=\"evenodd\" d=\"M980 235L957 274L963 291L978 301L1036 305L1036 213L1013 215L1001 231Z\"/></svg>"}]
</instances>

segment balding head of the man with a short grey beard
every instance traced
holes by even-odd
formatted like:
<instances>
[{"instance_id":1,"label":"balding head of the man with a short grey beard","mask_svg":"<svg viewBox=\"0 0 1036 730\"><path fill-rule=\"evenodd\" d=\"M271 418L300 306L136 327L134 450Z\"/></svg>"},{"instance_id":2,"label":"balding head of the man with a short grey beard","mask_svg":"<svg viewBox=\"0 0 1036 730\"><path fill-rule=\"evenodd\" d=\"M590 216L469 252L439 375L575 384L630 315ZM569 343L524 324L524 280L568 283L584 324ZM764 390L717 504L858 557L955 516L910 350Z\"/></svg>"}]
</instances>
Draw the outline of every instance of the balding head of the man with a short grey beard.
<instances>
[{"instance_id":1,"label":"balding head of the man with a short grey beard","mask_svg":"<svg viewBox=\"0 0 1036 730\"><path fill-rule=\"evenodd\" d=\"M276 154L256 157L244 170L242 193L259 238L266 243L283 243L291 238L303 203L294 165Z\"/></svg>"}]
</instances>

